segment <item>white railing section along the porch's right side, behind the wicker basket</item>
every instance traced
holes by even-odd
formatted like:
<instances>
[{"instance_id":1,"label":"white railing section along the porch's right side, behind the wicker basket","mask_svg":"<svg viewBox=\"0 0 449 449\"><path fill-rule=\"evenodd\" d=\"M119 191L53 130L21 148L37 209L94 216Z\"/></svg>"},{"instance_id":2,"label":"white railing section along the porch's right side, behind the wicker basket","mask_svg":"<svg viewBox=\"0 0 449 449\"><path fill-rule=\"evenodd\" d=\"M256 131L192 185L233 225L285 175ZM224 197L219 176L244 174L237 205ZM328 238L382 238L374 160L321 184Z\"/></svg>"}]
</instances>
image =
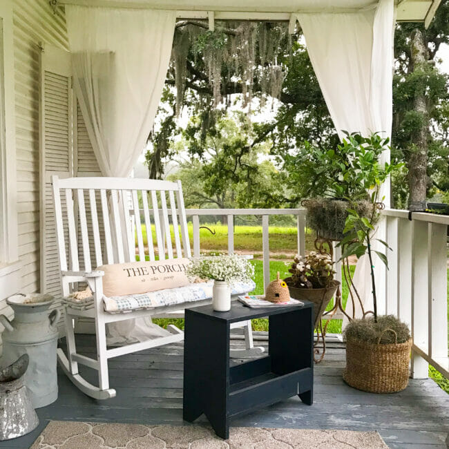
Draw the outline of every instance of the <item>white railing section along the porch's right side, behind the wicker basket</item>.
<instances>
[{"instance_id":1,"label":"white railing section along the porch's right side, behind the wicker basket","mask_svg":"<svg viewBox=\"0 0 449 449\"><path fill-rule=\"evenodd\" d=\"M428 377L428 364L449 377L447 231L449 216L385 209L389 270L385 311L412 329L412 376Z\"/></svg>"}]
</instances>

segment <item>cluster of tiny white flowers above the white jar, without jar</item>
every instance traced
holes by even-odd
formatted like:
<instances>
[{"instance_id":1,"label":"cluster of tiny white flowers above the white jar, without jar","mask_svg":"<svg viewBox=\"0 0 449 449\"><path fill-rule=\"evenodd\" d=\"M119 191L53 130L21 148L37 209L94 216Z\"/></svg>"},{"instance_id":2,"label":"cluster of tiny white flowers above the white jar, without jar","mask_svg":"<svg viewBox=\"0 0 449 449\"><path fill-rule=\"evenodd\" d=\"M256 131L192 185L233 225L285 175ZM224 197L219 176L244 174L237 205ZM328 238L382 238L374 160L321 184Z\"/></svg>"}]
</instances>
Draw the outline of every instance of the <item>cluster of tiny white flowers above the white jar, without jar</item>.
<instances>
[{"instance_id":1,"label":"cluster of tiny white flowers above the white jar, without jar","mask_svg":"<svg viewBox=\"0 0 449 449\"><path fill-rule=\"evenodd\" d=\"M187 267L189 278L247 282L254 276L254 266L242 256L201 256Z\"/></svg>"}]
</instances>

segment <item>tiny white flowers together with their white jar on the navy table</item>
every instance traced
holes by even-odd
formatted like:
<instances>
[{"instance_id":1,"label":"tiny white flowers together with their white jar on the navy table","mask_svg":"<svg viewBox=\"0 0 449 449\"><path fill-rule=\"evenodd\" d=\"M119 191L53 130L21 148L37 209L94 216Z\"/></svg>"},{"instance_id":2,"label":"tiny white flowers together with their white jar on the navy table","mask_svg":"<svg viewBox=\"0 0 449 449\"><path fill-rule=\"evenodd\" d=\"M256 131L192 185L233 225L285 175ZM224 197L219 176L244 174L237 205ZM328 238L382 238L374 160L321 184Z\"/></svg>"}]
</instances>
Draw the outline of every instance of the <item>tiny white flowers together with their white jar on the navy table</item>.
<instances>
[{"instance_id":1,"label":"tiny white flowers together with their white jar on the navy table","mask_svg":"<svg viewBox=\"0 0 449 449\"><path fill-rule=\"evenodd\" d=\"M213 279L213 309L227 312L231 309L230 283L251 282L254 266L241 256L202 256L193 258L186 274L192 279Z\"/></svg>"}]
</instances>

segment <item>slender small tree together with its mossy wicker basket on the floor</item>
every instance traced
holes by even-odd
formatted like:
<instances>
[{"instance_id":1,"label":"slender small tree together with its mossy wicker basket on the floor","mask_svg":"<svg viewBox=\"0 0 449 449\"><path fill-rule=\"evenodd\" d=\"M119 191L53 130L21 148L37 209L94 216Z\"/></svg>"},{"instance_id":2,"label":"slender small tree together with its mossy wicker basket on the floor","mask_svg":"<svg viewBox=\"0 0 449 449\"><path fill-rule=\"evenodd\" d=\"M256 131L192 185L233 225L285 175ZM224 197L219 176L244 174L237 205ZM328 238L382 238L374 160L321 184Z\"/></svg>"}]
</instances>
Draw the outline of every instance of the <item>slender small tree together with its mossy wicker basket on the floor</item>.
<instances>
[{"instance_id":1,"label":"slender small tree together with its mossy wicker basket on the floor","mask_svg":"<svg viewBox=\"0 0 449 449\"><path fill-rule=\"evenodd\" d=\"M391 172L399 165L388 166ZM382 176L385 173L382 171ZM403 390L408 385L408 363L412 341L410 331L399 318L378 316L374 259L381 260L388 267L388 258L383 251L373 245L383 245L385 252L390 249L383 240L376 238L374 224L379 219L379 192L381 181L375 179L370 192L372 213L361 216L354 208L348 207L348 216L343 233L345 237L338 243L342 247L342 258L367 254L370 260L370 274L373 295L373 316L350 321L344 336L346 340L346 367L343 379L354 388L367 392L390 393ZM383 200L383 198L382 198ZM351 206L354 202L348 201ZM367 312L365 312L367 314Z\"/></svg>"}]
</instances>

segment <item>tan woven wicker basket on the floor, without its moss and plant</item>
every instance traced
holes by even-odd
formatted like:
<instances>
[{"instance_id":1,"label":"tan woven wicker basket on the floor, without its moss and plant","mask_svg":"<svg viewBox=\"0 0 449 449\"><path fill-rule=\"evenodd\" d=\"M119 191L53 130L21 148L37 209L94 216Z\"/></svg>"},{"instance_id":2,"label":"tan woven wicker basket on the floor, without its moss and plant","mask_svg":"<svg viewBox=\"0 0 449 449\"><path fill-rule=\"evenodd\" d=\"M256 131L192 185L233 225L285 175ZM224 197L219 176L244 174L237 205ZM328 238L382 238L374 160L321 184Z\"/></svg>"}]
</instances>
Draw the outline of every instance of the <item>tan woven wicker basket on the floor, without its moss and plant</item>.
<instances>
[{"instance_id":1,"label":"tan woven wicker basket on the floor, without its moss and plant","mask_svg":"<svg viewBox=\"0 0 449 449\"><path fill-rule=\"evenodd\" d=\"M408 385L411 348L411 338L405 343L390 345L350 339L346 342L343 380L357 390L366 392L399 392Z\"/></svg>"}]
</instances>

